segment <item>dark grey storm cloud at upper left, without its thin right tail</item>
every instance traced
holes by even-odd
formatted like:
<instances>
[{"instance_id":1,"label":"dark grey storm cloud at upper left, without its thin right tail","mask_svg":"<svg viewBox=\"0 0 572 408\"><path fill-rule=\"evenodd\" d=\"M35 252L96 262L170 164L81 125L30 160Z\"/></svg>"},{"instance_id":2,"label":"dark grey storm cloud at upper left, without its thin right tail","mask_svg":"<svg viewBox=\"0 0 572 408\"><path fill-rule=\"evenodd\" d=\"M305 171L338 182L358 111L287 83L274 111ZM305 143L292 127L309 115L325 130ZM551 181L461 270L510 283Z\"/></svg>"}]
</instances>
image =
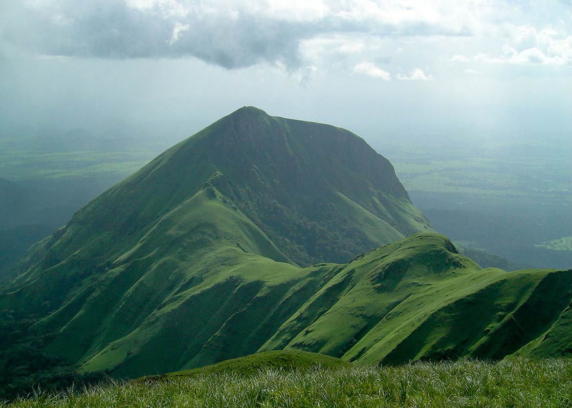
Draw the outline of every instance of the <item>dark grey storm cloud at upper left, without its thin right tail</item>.
<instances>
[{"instance_id":1,"label":"dark grey storm cloud at upper left, without its thin right tail","mask_svg":"<svg viewBox=\"0 0 572 408\"><path fill-rule=\"evenodd\" d=\"M227 69L261 61L299 65L298 44L308 25L241 14L161 16L125 2L15 5L3 18L3 41L37 53L98 58L177 58L192 55ZM178 35L177 35L178 31Z\"/></svg>"}]
</instances>

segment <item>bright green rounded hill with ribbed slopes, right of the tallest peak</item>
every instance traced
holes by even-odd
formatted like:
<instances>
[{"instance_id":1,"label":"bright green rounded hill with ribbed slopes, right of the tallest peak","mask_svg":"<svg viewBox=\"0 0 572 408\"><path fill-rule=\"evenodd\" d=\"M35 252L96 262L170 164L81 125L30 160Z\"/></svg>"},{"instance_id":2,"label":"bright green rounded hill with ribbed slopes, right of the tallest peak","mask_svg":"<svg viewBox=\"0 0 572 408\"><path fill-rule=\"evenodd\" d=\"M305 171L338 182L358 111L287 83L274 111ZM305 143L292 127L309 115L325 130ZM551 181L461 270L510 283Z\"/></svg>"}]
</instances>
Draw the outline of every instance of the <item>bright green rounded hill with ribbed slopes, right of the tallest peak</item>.
<instances>
[{"instance_id":1,"label":"bright green rounded hill with ribbed slopes, right of the tallest peak","mask_svg":"<svg viewBox=\"0 0 572 408\"><path fill-rule=\"evenodd\" d=\"M501 359L554 330L554 322L566 325L571 297L570 270L481 269L442 235L412 235L345 266L262 350L367 363ZM569 351L537 354L555 353Z\"/></svg>"}]
</instances>

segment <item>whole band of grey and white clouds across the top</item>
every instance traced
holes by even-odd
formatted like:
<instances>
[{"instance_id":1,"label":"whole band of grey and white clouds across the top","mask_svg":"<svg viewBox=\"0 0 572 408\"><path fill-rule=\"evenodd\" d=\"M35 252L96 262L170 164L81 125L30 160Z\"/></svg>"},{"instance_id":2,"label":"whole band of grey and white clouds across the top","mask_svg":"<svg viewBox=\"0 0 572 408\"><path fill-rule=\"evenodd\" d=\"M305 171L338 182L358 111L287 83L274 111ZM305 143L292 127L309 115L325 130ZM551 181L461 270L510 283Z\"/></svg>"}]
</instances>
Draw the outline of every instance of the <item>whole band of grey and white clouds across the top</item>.
<instances>
[{"instance_id":1,"label":"whole band of grey and white clouds across the top","mask_svg":"<svg viewBox=\"0 0 572 408\"><path fill-rule=\"evenodd\" d=\"M363 61L391 61L406 71L446 69L446 61L570 63L569 7L546 2L541 7L510 0L4 0L0 53L195 57L225 69L263 63L295 75L313 69L351 72ZM503 45L514 52L499 54ZM439 51L446 47L454 50L448 60L451 54ZM419 73L400 77L423 79Z\"/></svg>"}]
</instances>

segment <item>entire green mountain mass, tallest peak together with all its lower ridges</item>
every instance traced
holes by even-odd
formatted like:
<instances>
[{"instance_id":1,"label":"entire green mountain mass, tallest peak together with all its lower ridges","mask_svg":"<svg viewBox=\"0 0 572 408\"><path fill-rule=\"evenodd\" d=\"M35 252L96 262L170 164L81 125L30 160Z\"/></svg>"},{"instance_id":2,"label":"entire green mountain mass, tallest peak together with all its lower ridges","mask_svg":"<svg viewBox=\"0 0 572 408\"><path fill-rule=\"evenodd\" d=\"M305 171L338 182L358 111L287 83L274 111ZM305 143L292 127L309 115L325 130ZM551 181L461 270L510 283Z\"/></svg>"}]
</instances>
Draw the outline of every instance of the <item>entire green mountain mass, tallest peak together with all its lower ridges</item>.
<instances>
[{"instance_id":1,"label":"entire green mountain mass, tallest peak together with all its lower ridges","mask_svg":"<svg viewBox=\"0 0 572 408\"><path fill-rule=\"evenodd\" d=\"M116 377L275 349L569 353L543 339L566 336L572 271L483 270L363 139L253 107L101 194L18 268L0 310L43 317L47 352Z\"/></svg>"}]
</instances>

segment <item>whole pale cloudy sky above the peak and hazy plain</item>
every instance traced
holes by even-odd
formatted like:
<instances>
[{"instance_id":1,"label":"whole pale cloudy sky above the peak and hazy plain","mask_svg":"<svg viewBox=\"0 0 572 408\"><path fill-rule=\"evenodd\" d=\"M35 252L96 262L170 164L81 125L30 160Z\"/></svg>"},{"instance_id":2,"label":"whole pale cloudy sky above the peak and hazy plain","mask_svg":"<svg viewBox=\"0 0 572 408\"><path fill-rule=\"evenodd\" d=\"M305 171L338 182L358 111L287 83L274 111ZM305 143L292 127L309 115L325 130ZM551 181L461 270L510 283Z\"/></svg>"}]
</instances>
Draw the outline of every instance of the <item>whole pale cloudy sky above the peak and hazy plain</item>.
<instances>
[{"instance_id":1,"label":"whole pale cloudy sky above the peak and hazy plain","mask_svg":"<svg viewBox=\"0 0 572 408\"><path fill-rule=\"evenodd\" d=\"M0 2L0 133L182 138L245 105L374 143L570 141L572 1Z\"/></svg>"}]
</instances>

